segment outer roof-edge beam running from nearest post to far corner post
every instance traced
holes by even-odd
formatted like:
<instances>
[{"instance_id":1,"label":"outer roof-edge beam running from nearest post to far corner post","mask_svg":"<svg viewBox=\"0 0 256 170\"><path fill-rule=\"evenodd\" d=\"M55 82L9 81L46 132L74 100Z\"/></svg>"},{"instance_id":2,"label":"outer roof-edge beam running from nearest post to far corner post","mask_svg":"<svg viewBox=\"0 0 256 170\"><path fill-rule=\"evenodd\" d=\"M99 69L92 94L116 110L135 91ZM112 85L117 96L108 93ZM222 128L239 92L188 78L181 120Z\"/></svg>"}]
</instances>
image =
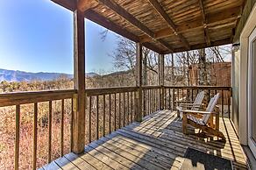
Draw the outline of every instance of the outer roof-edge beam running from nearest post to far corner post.
<instances>
[{"instance_id":1,"label":"outer roof-edge beam running from nearest post to far corner post","mask_svg":"<svg viewBox=\"0 0 256 170\"><path fill-rule=\"evenodd\" d=\"M139 42L138 36L134 35L132 32L125 30L123 27L119 25L116 25L109 19L104 18L103 16L98 14L96 11L87 10L84 12L84 16L85 18L88 18L89 20L95 22L96 24L102 25L103 27L107 28L112 32L116 32L117 34L123 36L126 39L131 39L134 42ZM163 53L163 50L161 50L158 46L154 46L150 43L143 43L142 45L148 49L153 50L154 52Z\"/></svg>"}]
</instances>

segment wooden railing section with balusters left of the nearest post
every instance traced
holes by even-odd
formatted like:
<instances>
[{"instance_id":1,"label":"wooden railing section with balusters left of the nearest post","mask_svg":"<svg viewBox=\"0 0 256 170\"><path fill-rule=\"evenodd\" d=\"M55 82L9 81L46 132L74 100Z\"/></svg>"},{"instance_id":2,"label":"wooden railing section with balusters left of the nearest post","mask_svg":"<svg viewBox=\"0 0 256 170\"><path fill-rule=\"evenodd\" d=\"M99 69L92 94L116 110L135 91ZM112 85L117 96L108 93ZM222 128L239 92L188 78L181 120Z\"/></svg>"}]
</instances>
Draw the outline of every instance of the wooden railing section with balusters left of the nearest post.
<instances>
[{"instance_id":1,"label":"wooden railing section with balusters left of the nearest post","mask_svg":"<svg viewBox=\"0 0 256 170\"><path fill-rule=\"evenodd\" d=\"M19 156L20 156L20 125L21 125L21 116L25 115L27 110L32 110L32 169L36 169L37 167L37 156L38 156L38 131L39 124L41 126L47 126L48 131L46 135L47 139L44 141L47 145L47 162L51 162L53 154L60 153L59 156L64 155L64 117L68 120L69 124L72 124L72 116L73 116L73 97L75 95L75 90L54 90L54 91L40 91L40 92L20 92L20 93L9 93L9 94L1 94L0 95L0 107L6 106L15 106L15 151L14 151L14 168L18 169L19 167ZM57 103L59 102L59 103ZM57 114L58 121L60 124L60 134L57 136L60 137L60 148L58 152L52 152L53 145L53 103L55 107L59 107L60 110L54 111L54 114ZM67 105L68 106L67 106ZM58 105L58 106L57 106ZM45 113L39 113L39 109L43 108L46 110ZM22 111L21 111L22 110ZM39 117L39 114L42 117ZM47 116L46 116L47 115ZM29 116L30 117L30 116ZM45 118L46 117L46 118ZM39 121L40 120L40 121ZM54 127L56 124L54 124ZM69 125L69 136L70 139L68 141L69 145L72 145L72 126ZM26 131L26 133L30 133L30 129ZM56 136L56 134L54 134ZM28 141L23 141L23 143L27 143ZM71 149L71 147L69 147ZM55 148L56 149L56 148ZM28 151L24 151L28 152ZM70 152L70 150L68 151ZM27 160L27 159L26 159ZM28 161L28 160L27 160ZM41 166L41 165L40 165ZM24 166L24 168L28 168Z\"/></svg>"}]
</instances>

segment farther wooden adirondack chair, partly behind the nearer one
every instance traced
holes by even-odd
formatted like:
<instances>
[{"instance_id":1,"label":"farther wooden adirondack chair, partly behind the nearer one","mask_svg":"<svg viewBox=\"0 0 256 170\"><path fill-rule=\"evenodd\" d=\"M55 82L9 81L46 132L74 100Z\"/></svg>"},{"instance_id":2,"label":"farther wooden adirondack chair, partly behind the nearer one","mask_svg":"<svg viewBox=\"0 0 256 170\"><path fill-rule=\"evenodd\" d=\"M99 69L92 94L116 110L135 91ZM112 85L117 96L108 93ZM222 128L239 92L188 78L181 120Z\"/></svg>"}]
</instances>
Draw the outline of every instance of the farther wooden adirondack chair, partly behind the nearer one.
<instances>
[{"instance_id":1,"label":"farther wooden adirondack chair, partly behind the nearer one","mask_svg":"<svg viewBox=\"0 0 256 170\"><path fill-rule=\"evenodd\" d=\"M182 117L181 116L182 110L199 110L202 107L203 98L204 98L204 91L201 91L200 93L197 94L194 103L180 103L180 106L176 107L177 116Z\"/></svg>"}]
</instances>

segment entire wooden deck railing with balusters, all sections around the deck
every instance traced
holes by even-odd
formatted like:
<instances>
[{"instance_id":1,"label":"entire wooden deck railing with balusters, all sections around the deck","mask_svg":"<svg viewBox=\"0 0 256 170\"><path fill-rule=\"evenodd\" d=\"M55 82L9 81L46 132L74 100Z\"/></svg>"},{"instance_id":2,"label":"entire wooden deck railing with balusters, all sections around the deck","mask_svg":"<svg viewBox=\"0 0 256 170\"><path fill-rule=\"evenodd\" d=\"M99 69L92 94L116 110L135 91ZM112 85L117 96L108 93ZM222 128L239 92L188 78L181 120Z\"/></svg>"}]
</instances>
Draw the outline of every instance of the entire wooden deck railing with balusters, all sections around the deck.
<instances>
[{"instance_id":1,"label":"entire wooden deck railing with balusters, all sections around the deck","mask_svg":"<svg viewBox=\"0 0 256 170\"><path fill-rule=\"evenodd\" d=\"M171 86L145 86L142 91L142 107L137 110L136 96L138 87L107 88L107 89L86 89L86 120L85 120L85 144L101 138L112 131L131 124L136 120L136 114L146 117L160 109L175 110L179 103L184 101L194 101L196 95L201 90L206 92L206 102L216 93L221 94L219 100L222 116L224 112L231 115L231 88L230 87L171 87ZM74 117L74 98L77 96L76 90L53 90L40 92L20 92L10 94L0 94L0 109L3 107L15 106L15 152L14 167L18 169L20 157L20 125L21 114L25 112L22 107L29 105L32 110L32 168L42 166L38 163L38 142L39 136L46 137L46 162L50 162L56 157L63 156L67 152L64 146L64 126L69 127L68 152L71 151L73 137L73 117ZM161 102L162 100L162 102ZM59 110L53 110L53 103ZM41 106L41 105L44 106ZM39 109L45 117L39 117ZM226 110L226 111L225 111ZM53 123L53 116L59 117ZM64 120L64 117L65 120ZM44 123L41 123L41 122ZM44 124L47 131L39 134L39 124ZM60 145L53 152L53 126L59 124L58 141ZM56 127L56 126L54 126ZM66 128L67 129L67 128ZM67 130L66 130L67 132ZM54 136L55 137L55 136ZM66 141L66 140L65 140ZM67 141L66 141L67 142ZM65 149L66 148L66 149Z\"/></svg>"}]
</instances>

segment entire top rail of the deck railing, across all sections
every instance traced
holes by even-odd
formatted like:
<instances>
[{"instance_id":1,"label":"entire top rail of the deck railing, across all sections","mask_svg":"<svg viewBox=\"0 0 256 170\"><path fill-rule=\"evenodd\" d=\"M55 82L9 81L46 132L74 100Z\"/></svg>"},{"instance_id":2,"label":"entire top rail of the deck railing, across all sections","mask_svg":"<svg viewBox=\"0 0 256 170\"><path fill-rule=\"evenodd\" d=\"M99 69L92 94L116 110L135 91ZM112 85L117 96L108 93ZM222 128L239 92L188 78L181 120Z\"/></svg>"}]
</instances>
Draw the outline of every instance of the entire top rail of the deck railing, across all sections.
<instances>
[{"instance_id":1,"label":"entire top rail of the deck railing, across all sections","mask_svg":"<svg viewBox=\"0 0 256 170\"><path fill-rule=\"evenodd\" d=\"M231 90L231 87L227 86L143 86L141 89L159 89L161 87L165 89ZM87 96L101 96L115 93L134 92L138 89L138 87L132 86L86 89L85 91ZM77 91L75 89L4 93L0 94L0 107L72 98L76 93Z\"/></svg>"}]
</instances>

